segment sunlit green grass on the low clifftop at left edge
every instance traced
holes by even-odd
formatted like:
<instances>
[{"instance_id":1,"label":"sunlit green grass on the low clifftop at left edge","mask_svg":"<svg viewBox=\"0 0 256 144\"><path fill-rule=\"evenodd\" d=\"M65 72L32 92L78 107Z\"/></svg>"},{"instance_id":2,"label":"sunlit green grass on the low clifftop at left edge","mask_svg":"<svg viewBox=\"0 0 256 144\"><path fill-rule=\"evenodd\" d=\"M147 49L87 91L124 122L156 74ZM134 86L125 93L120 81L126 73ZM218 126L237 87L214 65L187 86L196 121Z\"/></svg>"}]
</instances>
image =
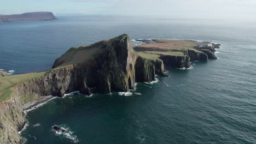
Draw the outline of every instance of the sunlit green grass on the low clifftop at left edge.
<instances>
[{"instance_id":1,"label":"sunlit green grass on the low clifftop at left edge","mask_svg":"<svg viewBox=\"0 0 256 144\"><path fill-rule=\"evenodd\" d=\"M28 80L44 76L46 71L0 77L0 101L8 100L14 94L13 87Z\"/></svg>"}]
</instances>

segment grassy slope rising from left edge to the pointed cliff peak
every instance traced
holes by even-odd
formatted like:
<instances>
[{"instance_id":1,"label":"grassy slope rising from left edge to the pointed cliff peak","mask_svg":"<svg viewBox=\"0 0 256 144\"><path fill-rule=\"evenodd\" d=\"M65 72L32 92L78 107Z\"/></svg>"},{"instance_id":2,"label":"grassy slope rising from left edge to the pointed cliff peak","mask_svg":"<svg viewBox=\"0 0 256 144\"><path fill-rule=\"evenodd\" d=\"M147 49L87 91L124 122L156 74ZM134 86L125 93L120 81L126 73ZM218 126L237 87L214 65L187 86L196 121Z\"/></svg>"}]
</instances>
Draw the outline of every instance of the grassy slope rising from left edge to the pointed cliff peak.
<instances>
[{"instance_id":1,"label":"grassy slope rising from left edge to the pointed cliff peak","mask_svg":"<svg viewBox=\"0 0 256 144\"><path fill-rule=\"evenodd\" d=\"M61 65L59 65L59 67L55 69L51 69L51 70L43 71L39 73L28 73L28 74L0 77L0 102L8 100L12 97L12 94L14 92L13 87L15 85L18 85L19 83L22 83L24 81L29 81L38 77L42 77L52 70L56 70L63 67L68 67L69 65L72 65L72 64L88 61L90 58L96 56L99 52L102 52L104 45L107 45L113 40L121 40L125 37L127 37L127 35L123 34L123 35L120 35L119 37L103 40L91 45L71 47L71 49L69 49L66 53L64 53L59 58L60 61L64 61L65 63L62 63Z\"/></svg>"}]
</instances>

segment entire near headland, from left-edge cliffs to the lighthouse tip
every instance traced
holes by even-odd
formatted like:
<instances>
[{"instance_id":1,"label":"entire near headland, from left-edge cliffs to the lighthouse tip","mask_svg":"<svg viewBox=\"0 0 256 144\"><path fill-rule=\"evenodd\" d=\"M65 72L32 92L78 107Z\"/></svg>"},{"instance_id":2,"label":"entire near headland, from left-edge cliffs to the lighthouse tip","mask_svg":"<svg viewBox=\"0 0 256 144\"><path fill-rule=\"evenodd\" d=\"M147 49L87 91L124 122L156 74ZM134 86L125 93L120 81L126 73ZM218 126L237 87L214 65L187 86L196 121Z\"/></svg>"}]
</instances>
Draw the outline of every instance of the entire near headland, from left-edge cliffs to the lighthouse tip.
<instances>
[{"instance_id":1,"label":"entire near headland, from left-edge cliffs to the lighthouse tip","mask_svg":"<svg viewBox=\"0 0 256 144\"><path fill-rule=\"evenodd\" d=\"M219 48L219 44L193 40L139 41L144 44L131 45L123 34L71 47L50 70L12 76L0 71L0 143L24 143L18 134L26 123L24 110L53 96L127 92L135 89L136 82L155 81L155 74L167 76L165 67L189 68L190 61L217 59L214 49Z\"/></svg>"}]
</instances>

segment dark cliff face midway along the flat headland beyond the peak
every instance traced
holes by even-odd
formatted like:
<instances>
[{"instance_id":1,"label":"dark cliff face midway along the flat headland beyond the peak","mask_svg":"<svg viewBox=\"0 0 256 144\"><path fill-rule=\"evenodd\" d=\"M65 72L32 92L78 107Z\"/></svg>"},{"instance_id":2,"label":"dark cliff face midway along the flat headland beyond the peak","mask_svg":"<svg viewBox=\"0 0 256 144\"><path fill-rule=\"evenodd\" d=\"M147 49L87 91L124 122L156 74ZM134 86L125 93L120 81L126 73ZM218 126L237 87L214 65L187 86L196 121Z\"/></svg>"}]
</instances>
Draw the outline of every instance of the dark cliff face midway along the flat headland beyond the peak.
<instances>
[{"instance_id":1,"label":"dark cliff face midway along the flat headland beyond the peak","mask_svg":"<svg viewBox=\"0 0 256 144\"><path fill-rule=\"evenodd\" d=\"M189 68L190 67L189 56L162 55L159 58L162 59L165 67L170 67L170 68Z\"/></svg>"}]
</instances>

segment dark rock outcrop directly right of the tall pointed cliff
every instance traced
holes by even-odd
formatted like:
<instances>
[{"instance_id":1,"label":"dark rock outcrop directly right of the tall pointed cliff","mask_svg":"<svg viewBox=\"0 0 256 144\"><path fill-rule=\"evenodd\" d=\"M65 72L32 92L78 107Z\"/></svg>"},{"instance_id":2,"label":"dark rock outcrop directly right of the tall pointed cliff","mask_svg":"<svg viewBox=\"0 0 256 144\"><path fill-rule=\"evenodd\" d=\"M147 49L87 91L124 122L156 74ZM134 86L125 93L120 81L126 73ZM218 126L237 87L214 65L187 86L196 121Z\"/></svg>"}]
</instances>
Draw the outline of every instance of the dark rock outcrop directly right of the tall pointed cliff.
<instances>
[{"instance_id":1,"label":"dark rock outcrop directly right of the tall pointed cliff","mask_svg":"<svg viewBox=\"0 0 256 144\"><path fill-rule=\"evenodd\" d=\"M155 67L146 58L138 56L135 65L135 76L137 82L151 82L155 80Z\"/></svg>"}]
</instances>

